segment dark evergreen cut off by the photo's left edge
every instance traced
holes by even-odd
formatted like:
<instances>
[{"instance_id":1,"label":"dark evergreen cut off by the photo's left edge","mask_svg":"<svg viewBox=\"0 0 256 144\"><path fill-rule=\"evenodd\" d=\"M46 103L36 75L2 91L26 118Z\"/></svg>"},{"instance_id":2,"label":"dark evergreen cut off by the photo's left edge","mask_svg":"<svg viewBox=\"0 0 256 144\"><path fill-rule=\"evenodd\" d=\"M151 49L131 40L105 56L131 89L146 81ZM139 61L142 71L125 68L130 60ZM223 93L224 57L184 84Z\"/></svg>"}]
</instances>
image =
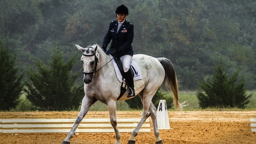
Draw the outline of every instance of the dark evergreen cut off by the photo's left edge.
<instances>
[{"instance_id":1,"label":"dark evergreen cut off by the photo's left edge","mask_svg":"<svg viewBox=\"0 0 256 144\"><path fill-rule=\"evenodd\" d=\"M0 110L15 108L23 90L23 73L15 67L16 54L11 58L10 49L0 41Z\"/></svg>"}]
</instances>

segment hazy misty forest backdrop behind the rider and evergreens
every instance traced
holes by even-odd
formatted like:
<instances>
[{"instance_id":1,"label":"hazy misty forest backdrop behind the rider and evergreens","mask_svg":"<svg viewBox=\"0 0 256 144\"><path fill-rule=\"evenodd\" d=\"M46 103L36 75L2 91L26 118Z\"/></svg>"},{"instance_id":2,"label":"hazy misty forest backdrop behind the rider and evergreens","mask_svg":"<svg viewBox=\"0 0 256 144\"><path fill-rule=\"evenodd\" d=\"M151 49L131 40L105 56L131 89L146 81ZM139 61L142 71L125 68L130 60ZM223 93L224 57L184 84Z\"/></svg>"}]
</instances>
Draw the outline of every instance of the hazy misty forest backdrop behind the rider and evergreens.
<instances>
[{"instance_id":1,"label":"hazy misty forest backdrop behind the rider and evergreens","mask_svg":"<svg viewBox=\"0 0 256 144\"><path fill-rule=\"evenodd\" d=\"M180 90L200 89L198 81L211 78L220 57L228 73L240 69L245 86L255 89L254 0L2 0L0 39L11 53L17 52L20 72L36 68L38 58L41 63L51 60L57 41L68 60L78 54L75 44L102 43L121 4L134 25L135 54L170 59ZM73 73L81 69L78 59Z\"/></svg>"}]
</instances>

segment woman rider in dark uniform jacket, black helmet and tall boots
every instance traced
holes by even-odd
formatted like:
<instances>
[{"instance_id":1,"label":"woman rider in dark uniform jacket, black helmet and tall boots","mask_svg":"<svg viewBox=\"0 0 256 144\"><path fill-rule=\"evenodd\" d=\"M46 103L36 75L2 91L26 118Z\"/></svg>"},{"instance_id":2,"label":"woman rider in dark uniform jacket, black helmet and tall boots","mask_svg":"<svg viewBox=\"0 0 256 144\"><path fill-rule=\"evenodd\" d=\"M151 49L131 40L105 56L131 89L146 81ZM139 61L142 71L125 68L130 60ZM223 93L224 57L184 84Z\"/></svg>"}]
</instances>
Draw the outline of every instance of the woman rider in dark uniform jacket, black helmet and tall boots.
<instances>
[{"instance_id":1,"label":"woman rider in dark uniform jacket, black helmet and tall boots","mask_svg":"<svg viewBox=\"0 0 256 144\"><path fill-rule=\"evenodd\" d=\"M117 20L110 23L108 32L103 40L102 49L106 52L107 46L112 39L106 54L113 54L123 62L125 80L130 87L127 97L130 98L135 96L133 74L130 68L133 56L133 25L126 21L127 16L128 8L126 6L122 4L116 8Z\"/></svg>"}]
</instances>

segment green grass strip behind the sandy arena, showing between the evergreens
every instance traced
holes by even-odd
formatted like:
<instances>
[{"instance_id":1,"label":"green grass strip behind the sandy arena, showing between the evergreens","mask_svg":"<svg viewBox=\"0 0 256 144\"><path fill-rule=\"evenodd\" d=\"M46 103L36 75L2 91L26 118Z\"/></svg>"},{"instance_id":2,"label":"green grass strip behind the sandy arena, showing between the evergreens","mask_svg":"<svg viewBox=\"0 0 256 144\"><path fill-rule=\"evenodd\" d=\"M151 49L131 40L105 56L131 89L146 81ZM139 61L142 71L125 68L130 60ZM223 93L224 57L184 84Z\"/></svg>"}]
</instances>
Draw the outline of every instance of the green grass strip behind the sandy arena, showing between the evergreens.
<instances>
[{"instance_id":1,"label":"green grass strip behind the sandy arena, showing between the evergreens","mask_svg":"<svg viewBox=\"0 0 256 144\"><path fill-rule=\"evenodd\" d=\"M188 106L184 107L184 111L256 111L256 90L254 91L247 91L247 94L253 93L250 103L246 105L245 109L239 109L239 108L207 108L207 109L201 109L198 105L198 100L196 98L196 91L181 91L179 102L183 103L186 101L185 104ZM172 96L170 92L165 92L167 96ZM14 108L10 109L11 112L17 111L33 111L33 106L30 101L26 99L25 94L22 94L20 96L20 103L19 105ZM79 111L80 108L74 109L74 111ZM117 111L141 111L141 110L134 110L129 108L128 104L125 101L117 101L116 102L116 110ZM176 111L176 109L168 108L168 110ZM97 101L92 107L90 108L90 111L108 111L108 107L106 104L101 103L100 101Z\"/></svg>"}]
</instances>

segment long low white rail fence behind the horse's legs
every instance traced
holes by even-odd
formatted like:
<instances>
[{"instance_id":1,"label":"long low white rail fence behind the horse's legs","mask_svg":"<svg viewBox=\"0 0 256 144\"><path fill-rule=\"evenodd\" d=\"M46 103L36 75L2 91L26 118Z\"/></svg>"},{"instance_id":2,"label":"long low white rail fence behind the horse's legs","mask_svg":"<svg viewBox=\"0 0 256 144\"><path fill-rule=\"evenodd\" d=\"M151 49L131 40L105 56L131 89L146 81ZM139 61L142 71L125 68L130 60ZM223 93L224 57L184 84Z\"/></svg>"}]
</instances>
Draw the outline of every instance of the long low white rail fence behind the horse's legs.
<instances>
[{"instance_id":1,"label":"long low white rail fence behind the horse's legs","mask_svg":"<svg viewBox=\"0 0 256 144\"><path fill-rule=\"evenodd\" d=\"M0 133L68 133L76 119L0 119ZM132 132L140 118L117 118L119 132ZM79 132L114 132L109 118L86 118L76 129ZM149 119L140 132L150 132Z\"/></svg>"}]
</instances>

